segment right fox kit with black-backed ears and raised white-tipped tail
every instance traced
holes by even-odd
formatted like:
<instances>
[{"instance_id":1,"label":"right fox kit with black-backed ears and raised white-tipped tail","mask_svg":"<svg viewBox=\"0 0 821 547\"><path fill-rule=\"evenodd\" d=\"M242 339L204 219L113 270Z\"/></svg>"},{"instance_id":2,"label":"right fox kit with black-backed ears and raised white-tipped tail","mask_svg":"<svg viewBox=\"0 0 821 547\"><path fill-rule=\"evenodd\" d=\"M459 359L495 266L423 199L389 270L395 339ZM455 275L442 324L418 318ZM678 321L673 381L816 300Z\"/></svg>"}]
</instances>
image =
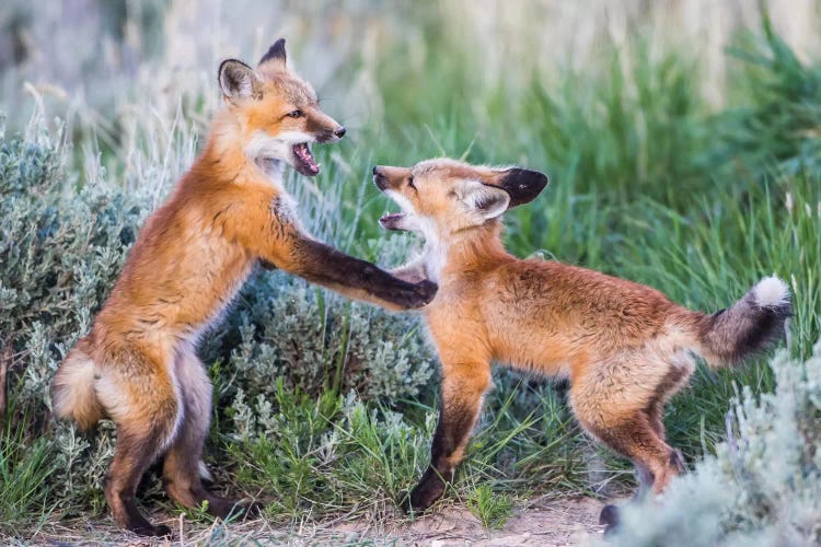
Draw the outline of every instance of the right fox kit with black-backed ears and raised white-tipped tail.
<instances>
[{"instance_id":1,"label":"right fox kit with black-backed ears and raised white-tipped tail","mask_svg":"<svg viewBox=\"0 0 821 547\"><path fill-rule=\"evenodd\" d=\"M691 351L712 365L738 363L777 337L790 313L787 286L775 277L707 315L598 271L517 259L502 246L500 218L547 185L537 172L429 160L374 167L373 181L402 209L381 224L426 241L424 255L393 274L439 284L424 313L442 366L440 418L430 467L406 509L429 508L453 478L492 361L569 379L581 427L632 459L643 486L660 493L682 470L662 415L693 372ZM613 508L602 517L614 520Z\"/></svg>"}]
</instances>

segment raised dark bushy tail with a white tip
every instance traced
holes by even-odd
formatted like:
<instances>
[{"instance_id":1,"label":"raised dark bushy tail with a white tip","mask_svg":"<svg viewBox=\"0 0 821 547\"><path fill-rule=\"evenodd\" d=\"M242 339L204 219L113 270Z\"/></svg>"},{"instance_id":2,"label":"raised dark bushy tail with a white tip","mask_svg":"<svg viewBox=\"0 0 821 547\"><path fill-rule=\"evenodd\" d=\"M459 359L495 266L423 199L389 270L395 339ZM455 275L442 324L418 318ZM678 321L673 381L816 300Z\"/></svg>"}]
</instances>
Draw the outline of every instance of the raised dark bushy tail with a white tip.
<instances>
[{"instance_id":1,"label":"raised dark bushy tail with a white tip","mask_svg":"<svg viewBox=\"0 0 821 547\"><path fill-rule=\"evenodd\" d=\"M699 353L714 366L738 363L784 334L790 310L787 283L764 278L732 307L699 318Z\"/></svg>"}]
</instances>

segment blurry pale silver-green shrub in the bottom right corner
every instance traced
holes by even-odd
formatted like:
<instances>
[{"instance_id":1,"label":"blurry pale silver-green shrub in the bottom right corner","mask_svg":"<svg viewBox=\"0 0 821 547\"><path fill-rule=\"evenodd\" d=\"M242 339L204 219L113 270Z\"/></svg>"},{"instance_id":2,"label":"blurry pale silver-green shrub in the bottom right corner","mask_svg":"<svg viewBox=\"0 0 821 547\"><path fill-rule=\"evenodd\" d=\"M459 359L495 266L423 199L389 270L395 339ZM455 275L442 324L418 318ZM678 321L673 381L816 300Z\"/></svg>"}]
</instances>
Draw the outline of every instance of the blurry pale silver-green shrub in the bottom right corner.
<instances>
[{"instance_id":1,"label":"blurry pale silver-green shrub in the bottom right corner","mask_svg":"<svg viewBox=\"0 0 821 547\"><path fill-rule=\"evenodd\" d=\"M806 361L780 351L773 393L744 386L716 455L663 498L625 507L614 546L821 543L821 340Z\"/></svg>"}]
</instances>

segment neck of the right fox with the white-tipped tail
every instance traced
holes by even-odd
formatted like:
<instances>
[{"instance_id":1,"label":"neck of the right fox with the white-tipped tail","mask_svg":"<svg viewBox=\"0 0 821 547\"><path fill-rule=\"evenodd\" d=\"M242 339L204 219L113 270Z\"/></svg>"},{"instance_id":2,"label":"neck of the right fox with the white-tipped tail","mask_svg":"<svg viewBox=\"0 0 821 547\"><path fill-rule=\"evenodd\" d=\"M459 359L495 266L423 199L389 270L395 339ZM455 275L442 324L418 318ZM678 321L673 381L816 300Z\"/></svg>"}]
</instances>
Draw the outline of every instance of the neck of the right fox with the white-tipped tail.
<instances>
[{"instance_id":1,"label":"neck of the right fox with the white-tipped tail","mask_svg":"<svg viewBox=\"0 0 821 547\"><path fill-rule=\"evenodd\" d=\"M513 259L501 242L500 222L458 232L448 241L427 237L425 256L428 279L439 283L453 276L481 271Z\"/></svg>"}]
</instances>

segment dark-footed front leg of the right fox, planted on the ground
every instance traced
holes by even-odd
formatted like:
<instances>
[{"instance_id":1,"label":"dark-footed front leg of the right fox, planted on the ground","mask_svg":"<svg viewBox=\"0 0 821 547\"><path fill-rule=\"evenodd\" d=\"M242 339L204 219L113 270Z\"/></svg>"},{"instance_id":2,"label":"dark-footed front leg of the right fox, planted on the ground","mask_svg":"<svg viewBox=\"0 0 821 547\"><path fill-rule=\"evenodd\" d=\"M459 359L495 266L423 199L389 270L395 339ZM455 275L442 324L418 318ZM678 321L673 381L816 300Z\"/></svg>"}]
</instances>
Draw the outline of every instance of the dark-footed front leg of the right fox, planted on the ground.
<instances>
[{"instance_id":1,"label":"dark-footed front leg of the right fox, planted on the ground","mask_svg":"<svg viewBox=\"0 0 821 547\"><path fill-rule=\"evenodd\" d=\"M442 497L464 457L482 399L490 386L490 366L484 362L449 362L442 357L442 387L439 423L430 446L430 466L410 494L402 500L405 510L424 511Z\"/></svg>"}]
</instances>

